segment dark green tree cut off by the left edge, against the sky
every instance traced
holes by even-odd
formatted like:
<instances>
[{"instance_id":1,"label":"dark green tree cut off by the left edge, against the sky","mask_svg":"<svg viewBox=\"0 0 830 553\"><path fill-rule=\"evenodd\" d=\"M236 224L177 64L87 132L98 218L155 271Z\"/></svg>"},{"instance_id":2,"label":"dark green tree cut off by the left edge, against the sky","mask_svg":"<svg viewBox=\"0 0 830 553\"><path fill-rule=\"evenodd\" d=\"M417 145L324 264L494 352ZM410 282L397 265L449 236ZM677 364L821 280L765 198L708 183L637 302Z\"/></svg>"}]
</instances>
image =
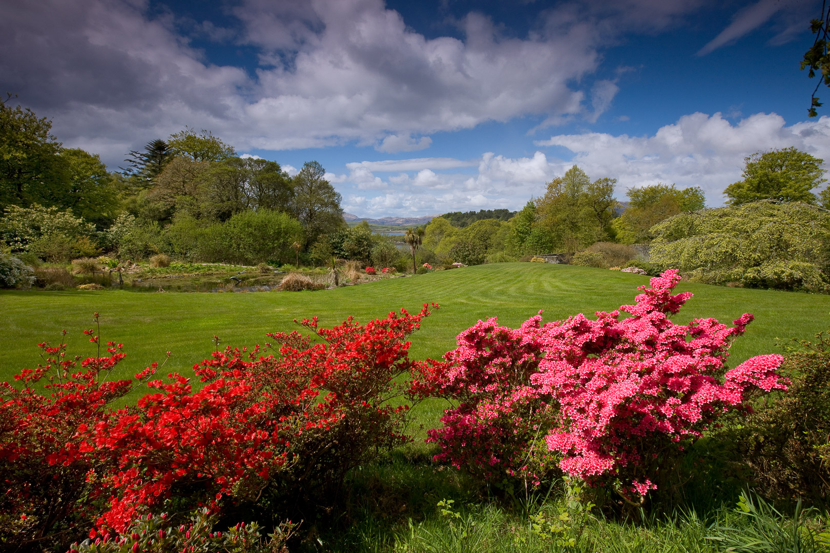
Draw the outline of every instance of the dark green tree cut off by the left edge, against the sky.
<instances>
[{"instance_id":1,"label":"dark green tree cut off by the left edge, against the sky","mask_svg":"<svg viewBox=\"0 0 830 553\"><path fill-rule=\"evenodd\" d=\"M57 205L65 192L61 143L51 121L0 99L0 209Z\"/></svg>"}]
</instances>

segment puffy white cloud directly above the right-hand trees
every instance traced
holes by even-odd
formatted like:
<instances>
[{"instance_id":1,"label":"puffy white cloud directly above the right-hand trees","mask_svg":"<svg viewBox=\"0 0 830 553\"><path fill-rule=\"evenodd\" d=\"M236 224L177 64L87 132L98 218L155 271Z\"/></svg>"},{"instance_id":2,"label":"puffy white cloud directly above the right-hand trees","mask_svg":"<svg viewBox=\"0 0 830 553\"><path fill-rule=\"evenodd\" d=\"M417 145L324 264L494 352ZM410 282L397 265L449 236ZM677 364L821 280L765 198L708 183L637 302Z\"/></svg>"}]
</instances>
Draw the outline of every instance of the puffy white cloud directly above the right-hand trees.
<instances>
[{"instance_id":1,"label":"puffy white cloud directly above the right-hand trees","mask_svg":"<svg viewBox=\"0 0 830 553\"><path fill-rule=\"evenodd\" d=\"M794 146L828 158L830 117L787 126L777 114L754 114L730 124L720 113L696 113L653 136L560 134L536 144L564 146L575 153L568 163L558 164L557 174L576 163L593 178L618 178L618 197L628 187L675 182L678 187L702 187L709 204L717 206L724 188L740 180L744 158L752 153Z\"/></svg>"}]
</instances>

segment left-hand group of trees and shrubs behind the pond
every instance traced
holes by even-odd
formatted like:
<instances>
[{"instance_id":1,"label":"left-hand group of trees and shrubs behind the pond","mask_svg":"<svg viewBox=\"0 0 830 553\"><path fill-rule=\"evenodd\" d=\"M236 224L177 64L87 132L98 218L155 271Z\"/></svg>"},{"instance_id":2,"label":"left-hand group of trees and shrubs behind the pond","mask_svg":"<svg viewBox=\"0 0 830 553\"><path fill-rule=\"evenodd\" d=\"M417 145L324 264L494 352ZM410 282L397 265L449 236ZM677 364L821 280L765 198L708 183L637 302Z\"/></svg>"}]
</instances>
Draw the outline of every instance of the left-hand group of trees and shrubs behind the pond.
<instances>
[{"instance_id":1,"label":"left-hand group of trees and shrubs behind the pond","mask_svg":"<svg viewBox=\"0 0 830 553\"><path fill-rule=\"evenodd\" d=\"M64 148L51 121L0 100L0 233L7 250L44 260L100 251L276 263L347 228L342 200L315 161L291 177L185 128L131 151L110 172L95 153ZM254 238L256 237L256 238Z\"/></svg>"}]
</instances>

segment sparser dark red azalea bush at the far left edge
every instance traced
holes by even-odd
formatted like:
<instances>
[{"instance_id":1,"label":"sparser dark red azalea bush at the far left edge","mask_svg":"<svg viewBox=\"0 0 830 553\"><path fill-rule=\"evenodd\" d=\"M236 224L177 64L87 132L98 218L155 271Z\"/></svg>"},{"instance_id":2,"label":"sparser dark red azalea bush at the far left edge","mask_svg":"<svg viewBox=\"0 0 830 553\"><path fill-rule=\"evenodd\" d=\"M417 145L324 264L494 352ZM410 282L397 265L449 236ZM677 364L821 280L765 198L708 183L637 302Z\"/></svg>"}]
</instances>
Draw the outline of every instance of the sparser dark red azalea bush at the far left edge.
<instances>
[{"instance_id":1,"label":"sparser dark red azalea bush at the far left edge","mask_svg":"<svg viewBox=\"0 0 830 553\"><path fill-rule=\"evenodd\" d=\"M44 362L15 377L22 387L0 383L0 544L12 549L49 548L61 536L89 530L105 502L96 475L116 467L95 455L80 432L104 420L107 405L156 367L136 375L137 382L109 381L125 357L121 344L110 342L108 356L83 361L67 357L64 343L38 346Z\"/></svg>"}]
</instances>

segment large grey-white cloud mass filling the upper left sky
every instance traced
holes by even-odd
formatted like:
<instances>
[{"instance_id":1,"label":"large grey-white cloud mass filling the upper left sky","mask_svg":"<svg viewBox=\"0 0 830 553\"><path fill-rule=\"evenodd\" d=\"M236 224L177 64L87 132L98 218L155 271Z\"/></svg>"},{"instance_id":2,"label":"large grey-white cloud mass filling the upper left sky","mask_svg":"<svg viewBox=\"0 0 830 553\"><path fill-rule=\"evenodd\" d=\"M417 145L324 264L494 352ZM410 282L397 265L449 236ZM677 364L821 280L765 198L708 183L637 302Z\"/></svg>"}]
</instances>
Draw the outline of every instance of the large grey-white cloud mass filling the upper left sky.
<instances>
[{"instance_id":1,"label":"large grey-white cloud mass filling the upper left sky","mask_svg":"<svg viewBox=\"0 0 830 553\"><path fill-rule=\"evenodd\" d=\"M614 91L590 79L599 48L697 3L566 2L540 8L527 36L471 12L458 37L427 38L382 0L239 0L225 27L154 15L149 0L7 2L0 85L110 165L185 125L242 151L408 152L487 121L595 118ZM213 64L188 36L255 51L255 74Z\"/></svg>"}]
</instances>

